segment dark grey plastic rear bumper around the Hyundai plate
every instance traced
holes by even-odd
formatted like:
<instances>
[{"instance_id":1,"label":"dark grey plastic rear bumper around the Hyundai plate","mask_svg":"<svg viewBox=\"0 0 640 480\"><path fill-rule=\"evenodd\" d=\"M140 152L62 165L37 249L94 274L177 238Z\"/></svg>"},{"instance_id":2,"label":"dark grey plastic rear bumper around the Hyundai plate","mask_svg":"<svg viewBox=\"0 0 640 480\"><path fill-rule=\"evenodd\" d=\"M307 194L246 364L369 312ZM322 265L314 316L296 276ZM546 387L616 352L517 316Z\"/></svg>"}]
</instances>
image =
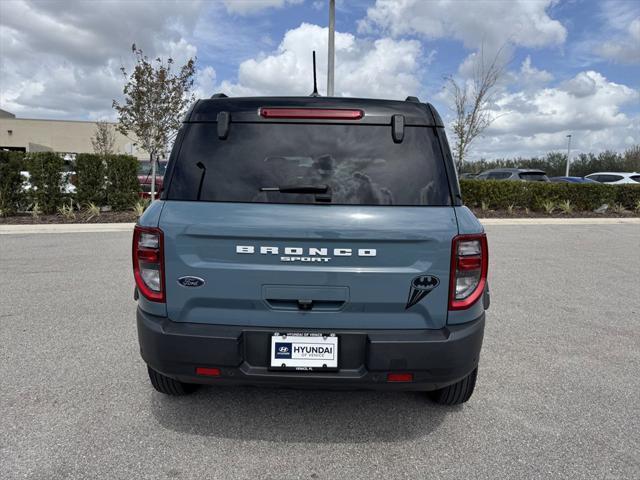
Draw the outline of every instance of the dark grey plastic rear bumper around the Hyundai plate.
<instances>
[{"instance_id":1,"label":"dark grey plastic rear bumper around the Hyundai plate","mask_svg":"<svg viewBox=\"0 0 640 480\"><path fill-rule=\"evenodd\" d=\"M339 370L269 370L274 329L172 322L138 308L138 339L154 370L187 383L273 385L307 388L435 390L468 375L478 365L484 313L440 330L332 330L339 336ZM283 329L284 332L319 331ZM196 375L217 367L219 377ZM387 373L410 372L411 383L388 383Z\"/></svg>"}]
</instances>

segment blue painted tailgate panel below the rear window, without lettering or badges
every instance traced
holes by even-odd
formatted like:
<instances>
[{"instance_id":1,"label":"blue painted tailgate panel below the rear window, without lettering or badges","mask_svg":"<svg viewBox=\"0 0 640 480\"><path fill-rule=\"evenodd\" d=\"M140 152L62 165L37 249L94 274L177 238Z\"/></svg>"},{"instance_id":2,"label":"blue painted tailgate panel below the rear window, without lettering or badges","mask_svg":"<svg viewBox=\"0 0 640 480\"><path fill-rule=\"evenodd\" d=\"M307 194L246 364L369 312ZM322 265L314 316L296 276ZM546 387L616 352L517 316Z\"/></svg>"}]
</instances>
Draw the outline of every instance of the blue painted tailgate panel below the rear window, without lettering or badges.
<instances>
[{"instance_id":1,"label":"blue painted tailgate panel below the rear window, without lettering or badges","mask_svg":"<svg viewBox=\"0 0 640 480\"><path fill-rule=\"evenodd\" d=\"M165 277L174 322L368 329L435 329L447 322L451 238L458 232L452 207L171 201L159 227L172 252ZM377 255L283 263L279 255L238 254L238 245L376 249ZM422 274L437 276L440 285L405 310L411 282ZM206 284L184 287L183 276ZM265 298L265 286L281 287L281 298ZM339 311L287 308L286 291L294 301L309 286L343 287L348 298L335 299L344 302Z\"/></svg>"}]
</instances>

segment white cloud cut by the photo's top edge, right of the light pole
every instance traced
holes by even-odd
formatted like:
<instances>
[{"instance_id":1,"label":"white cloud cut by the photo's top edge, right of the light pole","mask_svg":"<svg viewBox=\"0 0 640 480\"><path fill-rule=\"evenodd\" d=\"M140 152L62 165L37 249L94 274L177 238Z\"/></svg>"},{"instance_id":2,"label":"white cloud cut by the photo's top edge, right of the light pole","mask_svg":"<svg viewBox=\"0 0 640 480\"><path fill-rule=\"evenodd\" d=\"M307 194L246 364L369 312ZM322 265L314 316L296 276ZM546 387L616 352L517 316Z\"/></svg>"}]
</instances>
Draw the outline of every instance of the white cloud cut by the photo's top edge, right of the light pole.
<instances>
[{"instance_id":1,"label":"white cloud cut by the photo's top edge, right of the light pole","mask_svg":"<svg viewBox=\"0 0 640 480\"><path fill-rule=\"evenodd\" d=\"M394 36L453 37L467 48L485 44L495 51L512 43L543 47L564 43L567 31L547 13L552 0L377 0L359 23L361 32L377 28Z\"/></svg>"}]
</instances>

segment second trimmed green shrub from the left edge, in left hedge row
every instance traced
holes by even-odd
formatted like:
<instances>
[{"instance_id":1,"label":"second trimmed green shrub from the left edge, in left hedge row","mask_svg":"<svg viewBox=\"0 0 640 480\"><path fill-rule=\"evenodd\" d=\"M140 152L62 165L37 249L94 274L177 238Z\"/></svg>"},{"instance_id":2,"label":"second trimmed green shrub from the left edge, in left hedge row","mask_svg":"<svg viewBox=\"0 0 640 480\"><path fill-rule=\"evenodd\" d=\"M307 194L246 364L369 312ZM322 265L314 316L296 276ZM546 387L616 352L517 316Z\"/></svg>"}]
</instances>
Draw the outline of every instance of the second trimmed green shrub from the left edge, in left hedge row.
<instances>
[{"instance_id":1,"label":"second trimmed green shrub from the left edge, in left hedge row","mask_svg":"<svg viewBox=\"0 0 640 480\"><path fill-rule=\"evenodd\" d=\"M31 201L37 203L43 213L55 213L64 200L62 157L54 152L29 153L26 164L30 174Z\"/></svg>"}]
</instances>

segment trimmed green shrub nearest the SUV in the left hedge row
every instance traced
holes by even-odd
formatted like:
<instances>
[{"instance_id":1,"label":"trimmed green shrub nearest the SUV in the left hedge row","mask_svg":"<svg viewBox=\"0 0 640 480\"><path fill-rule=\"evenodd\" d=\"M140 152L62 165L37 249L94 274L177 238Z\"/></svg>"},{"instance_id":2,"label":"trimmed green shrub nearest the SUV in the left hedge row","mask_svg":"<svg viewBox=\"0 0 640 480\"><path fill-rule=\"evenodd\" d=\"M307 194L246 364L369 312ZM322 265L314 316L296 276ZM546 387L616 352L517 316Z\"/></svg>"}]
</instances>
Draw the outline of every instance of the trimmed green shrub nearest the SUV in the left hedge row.
<instances>
[{"instance_id":1,"label":"trimmed green shrub nearest the SUV in the left hedge row","mask_svg":"<svg viewBox=\"0 0 640 480\"><path fill-rule=\"evenodd\" d=\"M114 210L129 210L139 198L138 159L130 155L109 155L106 167L107 203Z\"/></svg>"}]
</instances>

